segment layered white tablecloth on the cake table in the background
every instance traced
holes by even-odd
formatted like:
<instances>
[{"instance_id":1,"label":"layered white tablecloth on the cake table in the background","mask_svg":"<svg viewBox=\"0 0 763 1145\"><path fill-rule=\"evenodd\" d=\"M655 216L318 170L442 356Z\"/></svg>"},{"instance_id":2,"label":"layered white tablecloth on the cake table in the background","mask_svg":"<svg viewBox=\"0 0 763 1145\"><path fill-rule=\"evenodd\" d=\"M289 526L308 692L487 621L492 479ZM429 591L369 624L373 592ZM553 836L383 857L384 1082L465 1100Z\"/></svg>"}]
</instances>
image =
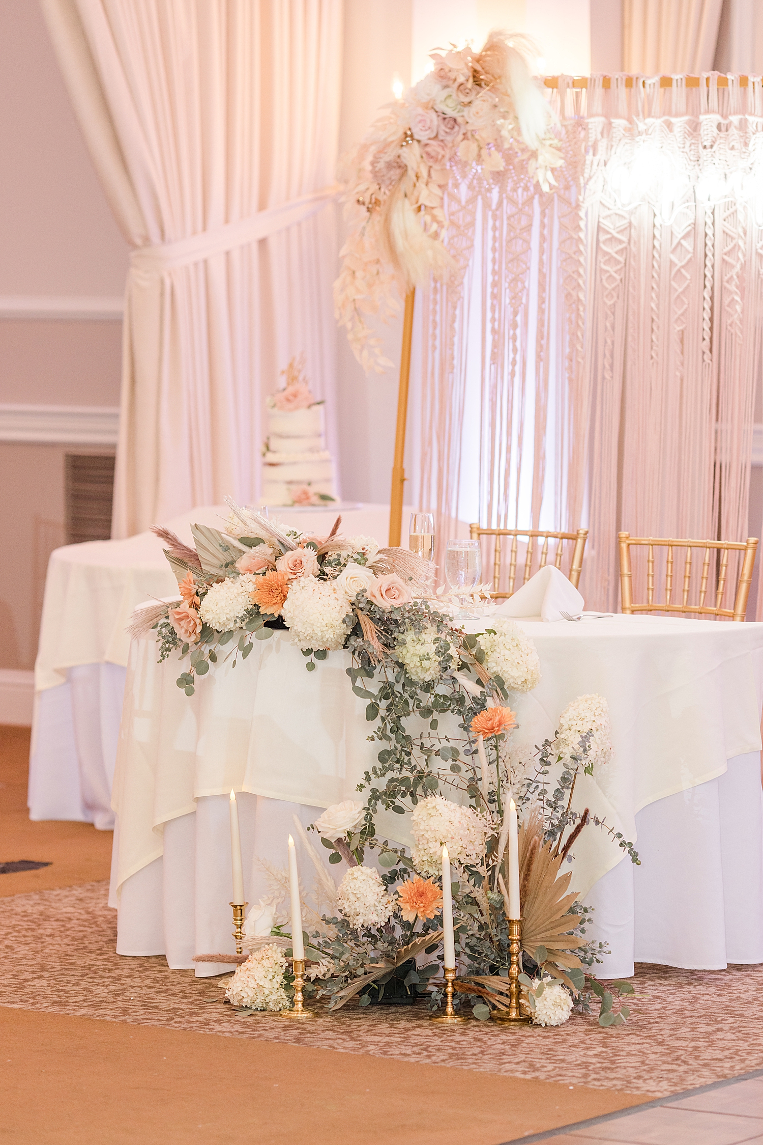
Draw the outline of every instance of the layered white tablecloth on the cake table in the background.
<instances>
[{"instance_id":1,"label":"layered white tablecloth on the cake table in the background","mask_svg":"<svg viewBox=\"0 0 763 1145\"><path fill-rule=\"evenodd\" d=\"M389 505L283 508L289 528L328 532L342 513L345 535L386 543ZM404 510L404 522L410 510ZM199 506L166 522L192 544L190 524L220 526L225 505ZM65 545L50 555L34 666L30 818L113 826L111 782L129 652L127 625L141 601L177 583L152 532L126 540Z\"/></svg>"}]
</instances>

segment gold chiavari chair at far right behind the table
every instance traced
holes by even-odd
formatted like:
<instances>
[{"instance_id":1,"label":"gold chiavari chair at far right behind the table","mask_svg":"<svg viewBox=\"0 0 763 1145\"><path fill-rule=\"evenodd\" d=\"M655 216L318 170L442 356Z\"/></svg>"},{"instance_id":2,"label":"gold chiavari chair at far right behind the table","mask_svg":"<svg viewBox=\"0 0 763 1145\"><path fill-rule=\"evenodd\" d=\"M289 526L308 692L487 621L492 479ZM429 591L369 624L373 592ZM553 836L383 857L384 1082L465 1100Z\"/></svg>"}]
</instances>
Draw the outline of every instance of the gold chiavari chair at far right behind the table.
<instances>
[{"instance_id":1,"label":"gold chiavari chair at far right behind the table","mask_svg":"<svg viewBox=\"0 0 763 1145\"><path fill-rule=\"evenodd\" d=\"M744 621L747 611L747 597L749 585L753 579L753 566L755 564L755 551L757 550L757 537L748 537L747 540L678 540L663 537L631 537L629 532L619 532L620 544L620 597L622 611L628 616L634 613L697 613L701 616L724 616L732 621ZM630 567L630 548L633 545L646 546L646 603L634 605L633 600L633 569ZM654 600L654 550L666 548L665 561L665 600ZM681 603L673 602L674 593L674 550L685 548L683 568L683 586L681 589ZM689 603L689 590L692 570L692 550L704 548L702 568L699 584L699 605ZM737 585L737 595L733 608L723 608L723 595L726 589L726 575L729 568L729 553L744 552L741 572ZM717 570L712 569L713 554L717 558ZM715 605L706 605L708 593L708 579L713 576L715 581ZM710 587L710 599L713 589Z\"/></svg>"}]
</instances>

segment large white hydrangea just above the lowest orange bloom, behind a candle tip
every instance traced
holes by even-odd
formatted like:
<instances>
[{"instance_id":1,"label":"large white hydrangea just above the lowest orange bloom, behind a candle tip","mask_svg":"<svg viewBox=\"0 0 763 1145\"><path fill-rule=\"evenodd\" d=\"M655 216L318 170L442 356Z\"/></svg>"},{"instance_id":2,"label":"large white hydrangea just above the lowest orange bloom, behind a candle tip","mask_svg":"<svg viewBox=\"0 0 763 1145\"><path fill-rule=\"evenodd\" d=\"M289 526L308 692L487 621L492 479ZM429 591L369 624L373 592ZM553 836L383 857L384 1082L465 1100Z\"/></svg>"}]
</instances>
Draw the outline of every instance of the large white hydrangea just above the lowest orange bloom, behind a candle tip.
<instances>
[{"instance_id":1,"label":"large white hydrangea just above the lowest orange bloom, behind a candle tip","mask_svg":"<svg viewBox=\"0 0 763 1145\"><path fill-rule=\"evenodd\" d=\"M443 844L451 862L477 862L485 848L487 823L472 807L435 795L420 799L413 808L411 830L415 839L411 851L414 867L431 878L443 869Z\"/></svg>"}]
</instances>

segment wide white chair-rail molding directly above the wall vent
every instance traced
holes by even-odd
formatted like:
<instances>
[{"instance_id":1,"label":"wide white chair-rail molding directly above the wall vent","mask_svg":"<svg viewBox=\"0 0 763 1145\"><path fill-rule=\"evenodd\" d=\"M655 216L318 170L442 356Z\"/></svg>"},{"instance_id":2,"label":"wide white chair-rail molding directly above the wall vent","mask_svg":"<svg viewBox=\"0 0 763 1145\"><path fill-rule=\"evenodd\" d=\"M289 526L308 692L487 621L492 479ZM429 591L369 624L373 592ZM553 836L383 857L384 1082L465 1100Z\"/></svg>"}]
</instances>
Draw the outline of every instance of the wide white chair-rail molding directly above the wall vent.
<instances>
[{"instance_id":1,"label":"wide white chair-rail molding directly above the wall vent","mask_svg":"<svg viewBox=\"0 0 763 1145\"><path fill-rule=\"evenodd\" d=\"M119 406L0 404L0 442L116 445Z\"/></svg>"}]
</instances>

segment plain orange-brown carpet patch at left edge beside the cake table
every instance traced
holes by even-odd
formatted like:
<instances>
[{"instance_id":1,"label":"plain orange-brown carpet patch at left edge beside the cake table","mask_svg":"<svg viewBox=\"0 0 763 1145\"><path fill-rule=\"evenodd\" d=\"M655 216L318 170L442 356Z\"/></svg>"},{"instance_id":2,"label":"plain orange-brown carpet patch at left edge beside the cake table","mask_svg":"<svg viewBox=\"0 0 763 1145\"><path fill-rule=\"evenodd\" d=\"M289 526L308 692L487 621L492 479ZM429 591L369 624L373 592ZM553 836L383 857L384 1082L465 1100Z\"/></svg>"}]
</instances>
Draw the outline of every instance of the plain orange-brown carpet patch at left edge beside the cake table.
<instances>
[{"instance_id":1,"label":"plain orange-brown carpet patch at left edge beside the cake table","mask_svg":"<svg viewBox=\"0 0 763 1145\"><path fill-rule=\"evenodd\" d=\"M32 823L26 807L30 729L0 726L0 862L49 862L0 875L0 898L109 878L111 831L90 823Z\"/></svg>"}]
</instances>

